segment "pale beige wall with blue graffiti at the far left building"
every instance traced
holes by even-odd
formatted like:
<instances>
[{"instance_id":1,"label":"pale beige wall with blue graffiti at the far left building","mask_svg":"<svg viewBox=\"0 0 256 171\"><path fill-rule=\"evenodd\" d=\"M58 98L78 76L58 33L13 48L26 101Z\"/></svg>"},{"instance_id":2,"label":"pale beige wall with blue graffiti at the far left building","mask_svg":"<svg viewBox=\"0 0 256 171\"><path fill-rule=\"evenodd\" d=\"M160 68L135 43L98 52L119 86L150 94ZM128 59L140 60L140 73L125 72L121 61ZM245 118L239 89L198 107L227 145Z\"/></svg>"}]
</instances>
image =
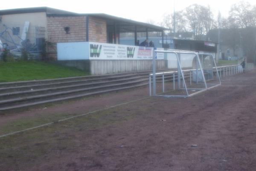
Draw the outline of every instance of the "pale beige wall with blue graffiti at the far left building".
<instances>
[{"instance_id":1,"label":"pale beige wall with blue graffiti at the far left building","mask_svg":"<svg viewBox=\"0 0 256 171\"><path fill-rule=\"evenodd\" d=\"M2 15L2 22L0 22L0 32L3 32L6 27L9 27L11 29L8 30L10 35L12 36L12 39L15 41L15 43L20 44L20 38L23 32L23 27L25 21L29 21L29 29L27 30L27 39L34 44L35 38L36 38L36 27L44 27L45 30L47 28L47 17L45 12L35 12L35 13L24 13L24 14L8 14L8 15ZM4 26L5 25L5 26ZM12 27L20 27L20 34L19 35L13 35L12 34ZM43 31L41 32L41 37L47 38L47 32ZM7 38L7 40L11 41L9 38L9 35L3 35L3 37ZM38 37L39 38L39 37ZM3 39L1 39L2 43L6 43ZM9 46L14 46L14 44L7 42Z\"/></svg>"}]
</instances>

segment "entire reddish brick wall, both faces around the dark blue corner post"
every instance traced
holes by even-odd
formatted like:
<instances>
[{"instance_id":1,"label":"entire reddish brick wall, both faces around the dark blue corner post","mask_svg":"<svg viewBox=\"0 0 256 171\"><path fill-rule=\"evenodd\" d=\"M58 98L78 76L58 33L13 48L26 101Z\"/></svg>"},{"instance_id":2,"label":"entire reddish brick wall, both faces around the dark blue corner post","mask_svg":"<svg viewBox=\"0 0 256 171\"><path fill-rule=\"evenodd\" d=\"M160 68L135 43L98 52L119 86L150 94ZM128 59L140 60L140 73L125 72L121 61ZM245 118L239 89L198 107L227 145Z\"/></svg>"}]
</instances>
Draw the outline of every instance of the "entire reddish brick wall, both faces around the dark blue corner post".
<instances>
[{"instance_id":1,"label":"entire reddish brick wall, both faces around the dark blue corner post","mask_svg":"<svg viewBox=\"0 0 256 171\"><path fill-rule=\"evenodd\" d=\"M69 33L65 31L69 27ZM56 43L86 41L86 16L47 17L48 58L57 58ZM89 17L89 41L107 42L107 23L105 20Z\"/></svg>"}]
</instances>

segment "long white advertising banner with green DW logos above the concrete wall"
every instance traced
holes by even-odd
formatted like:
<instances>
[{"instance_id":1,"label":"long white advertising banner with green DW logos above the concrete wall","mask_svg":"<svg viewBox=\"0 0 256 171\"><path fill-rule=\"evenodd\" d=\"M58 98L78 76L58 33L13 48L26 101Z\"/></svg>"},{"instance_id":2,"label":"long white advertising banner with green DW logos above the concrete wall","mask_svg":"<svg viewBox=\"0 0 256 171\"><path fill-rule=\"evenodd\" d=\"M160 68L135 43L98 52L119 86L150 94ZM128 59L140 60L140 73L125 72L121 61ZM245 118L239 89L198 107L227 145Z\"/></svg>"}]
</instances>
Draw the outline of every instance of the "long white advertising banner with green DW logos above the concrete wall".
<instances>
[{"instance_id":1,"label":"long white advertising banner with green DW logos above the concrete wall","mask_svg":"<svg viewBox=\"0 0 256 171\"><path fill-rule=\"evenodd\" d=\"M57 43L58 60L151 60L153 47L96 42ZM163 50L163 48L157 48ZM157 53L157 59L164 59Z\"/></svg>"}]
</instances>

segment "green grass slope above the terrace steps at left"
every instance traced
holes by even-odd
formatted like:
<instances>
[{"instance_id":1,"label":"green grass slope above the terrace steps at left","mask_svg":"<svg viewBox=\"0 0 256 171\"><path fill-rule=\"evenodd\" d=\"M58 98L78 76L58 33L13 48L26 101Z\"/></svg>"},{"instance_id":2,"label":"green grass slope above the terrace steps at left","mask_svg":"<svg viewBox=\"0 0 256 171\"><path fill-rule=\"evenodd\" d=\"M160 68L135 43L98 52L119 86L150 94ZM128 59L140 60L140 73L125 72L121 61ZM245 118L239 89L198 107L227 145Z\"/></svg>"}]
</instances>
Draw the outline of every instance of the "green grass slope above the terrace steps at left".
<instances>
[{"instance_id":1,"label":"green grass slope above the terrace steps at left","mask_svg":"<svg viewBox=\"0 0 256 171\"><path fill-rule=\"evenodd\" d=\"M40 61L0 62L0 82L41 80L89 75L72 67Z\"/></svg>"}]
</instances>

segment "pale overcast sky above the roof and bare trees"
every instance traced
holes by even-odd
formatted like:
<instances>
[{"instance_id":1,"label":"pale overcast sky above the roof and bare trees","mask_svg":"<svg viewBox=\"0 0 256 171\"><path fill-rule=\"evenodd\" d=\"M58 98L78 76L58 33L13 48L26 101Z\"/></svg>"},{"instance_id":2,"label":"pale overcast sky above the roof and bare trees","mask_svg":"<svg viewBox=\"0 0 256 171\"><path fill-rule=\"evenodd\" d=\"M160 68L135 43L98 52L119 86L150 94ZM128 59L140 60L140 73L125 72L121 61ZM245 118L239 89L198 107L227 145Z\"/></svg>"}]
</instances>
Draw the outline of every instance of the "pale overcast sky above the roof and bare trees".
<instances>
[{"instance_id":1,"label":"pale overcast sky above the roof and bare trees","mask_svg":"<svg viewBox=\"0 0 256 171\"><path fill-rule=\"evenodd\" d=\"M240 0L6 0L0 9L15 9L36 6L48 6L78 13L106 13L131 20L159 23L163 15L179 11L193 3L210 6L215 16L220 10L228 15L230 6ZM247 0L252 5L256 0Z\"/></svg>"}]
</instances>

